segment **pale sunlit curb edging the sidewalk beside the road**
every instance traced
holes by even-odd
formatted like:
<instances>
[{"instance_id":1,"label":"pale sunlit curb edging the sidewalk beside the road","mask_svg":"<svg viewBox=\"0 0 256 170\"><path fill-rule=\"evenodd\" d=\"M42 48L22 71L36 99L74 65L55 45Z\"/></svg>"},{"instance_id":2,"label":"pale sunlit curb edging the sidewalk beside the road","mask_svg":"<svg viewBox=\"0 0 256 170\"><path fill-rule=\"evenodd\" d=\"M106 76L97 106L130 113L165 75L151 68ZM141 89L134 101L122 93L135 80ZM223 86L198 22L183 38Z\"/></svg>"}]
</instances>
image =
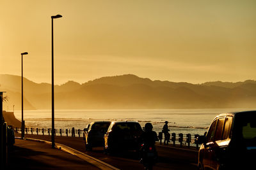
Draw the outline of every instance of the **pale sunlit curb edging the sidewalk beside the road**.
<instances>
[{"instance_id":1,"label":"pale sunlit curb edging the sidewalk beside the road","mask_svg":"<svg viewBox=\"0 0 256 170\"><path fill-rule=\"evenodd\" d=\"M15 139L21 139L21 138L15 137ZM50 141L45 141L45 140L41 140L41 139L26 138L25 140L27 140L27 141L36 141L36 142L40 142L40 143L47 143L49 145L52 145L52 143ZM99 169L120 170L120 169L118 169L118 168L116 168L114 166L111 166L111 165L107 164L106 162L102 162L99 159L91 157L90 155L87 155L87 154L85 154L83 152L79 152L78 150L70 148L70 147L68 147L66 145L62 145L60 143L55 143L55 148L57 148L59 150L63 150L64 152L70 153L72 155L75 155L76 157L79 157L80 159L83 159L86 162L89 162L93 166L99 167Z\"/></svg>"}]
</instances>

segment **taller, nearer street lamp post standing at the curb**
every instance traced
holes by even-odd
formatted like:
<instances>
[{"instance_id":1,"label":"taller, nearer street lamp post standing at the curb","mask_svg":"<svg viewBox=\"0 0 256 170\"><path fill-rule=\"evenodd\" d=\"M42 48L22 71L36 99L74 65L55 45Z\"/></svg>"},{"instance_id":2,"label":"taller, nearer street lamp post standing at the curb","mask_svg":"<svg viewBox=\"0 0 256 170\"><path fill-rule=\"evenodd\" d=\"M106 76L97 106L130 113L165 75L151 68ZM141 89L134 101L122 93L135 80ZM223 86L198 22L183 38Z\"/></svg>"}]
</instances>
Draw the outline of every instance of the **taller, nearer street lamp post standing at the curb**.
<instances>
[{"instance_id":1,"label":"taller, nearer street lamp post standing at the curb","mask_svg":"<svg viewBox=\"0 0 256 170\"><path fill-rule=\"evenodd\" d=\"M54 129L54 59L53 59L53 19L61 18L61 15L51 16L52 18L52 148L55 148L55 129Z\"/></svg>"}]
</instances>

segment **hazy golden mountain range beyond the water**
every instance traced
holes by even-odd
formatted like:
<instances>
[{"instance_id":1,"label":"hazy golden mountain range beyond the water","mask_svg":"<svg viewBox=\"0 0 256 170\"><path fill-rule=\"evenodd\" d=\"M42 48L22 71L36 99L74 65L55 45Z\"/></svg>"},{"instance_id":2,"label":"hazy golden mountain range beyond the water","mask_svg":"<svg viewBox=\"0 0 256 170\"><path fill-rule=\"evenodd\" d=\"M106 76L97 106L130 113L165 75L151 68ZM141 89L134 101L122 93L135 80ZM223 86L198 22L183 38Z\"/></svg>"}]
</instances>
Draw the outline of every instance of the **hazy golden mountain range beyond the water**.
<instances>
[{"instance_id":1,"label":"hazy golden mountain range beyond the water","mask_svg":"<svg viewBox=\"0 0 256 170\"><path fill-rule=\"evenodd\" d=\"M20 79L20 76L0 74L0 89L7 91L8 104L19 106ZM152 81L125 74L83 84L68 81L56 85L55 93L56 109L253 108L256 81L192 84ZM24 97L26 109L50 109L51 84L24 78Z\"/></svg>"}]
</instances>

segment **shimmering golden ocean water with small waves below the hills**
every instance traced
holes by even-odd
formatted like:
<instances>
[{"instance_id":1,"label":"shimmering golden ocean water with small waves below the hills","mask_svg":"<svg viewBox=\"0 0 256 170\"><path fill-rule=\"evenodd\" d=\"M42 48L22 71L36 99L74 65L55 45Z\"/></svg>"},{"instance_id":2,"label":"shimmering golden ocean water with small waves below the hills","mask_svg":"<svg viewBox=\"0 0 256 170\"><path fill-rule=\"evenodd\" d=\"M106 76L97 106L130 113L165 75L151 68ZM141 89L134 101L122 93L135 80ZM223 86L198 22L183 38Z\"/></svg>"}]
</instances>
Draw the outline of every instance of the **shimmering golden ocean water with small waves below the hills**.
<instances>
[{"instance_id":1,"label":"shimmering golden ocean water with small waves below the hills","mask_svg":"<svg viewBox=\"0 0 256 170\"><path fill-rule=\"evenodd\" d=\"M152 123L154 131L161 132L167 120L170 133L204 134L216 115L248 109L180 109L180 110L55 110L56 129L84 129L90 122L99 120L138 121L143 127ZM252 109L249 109L252 110ZM14 111L21 120L21 111ZM51 128L51 110L25 110L26 127Z\"/></svg>"}]
</instances>

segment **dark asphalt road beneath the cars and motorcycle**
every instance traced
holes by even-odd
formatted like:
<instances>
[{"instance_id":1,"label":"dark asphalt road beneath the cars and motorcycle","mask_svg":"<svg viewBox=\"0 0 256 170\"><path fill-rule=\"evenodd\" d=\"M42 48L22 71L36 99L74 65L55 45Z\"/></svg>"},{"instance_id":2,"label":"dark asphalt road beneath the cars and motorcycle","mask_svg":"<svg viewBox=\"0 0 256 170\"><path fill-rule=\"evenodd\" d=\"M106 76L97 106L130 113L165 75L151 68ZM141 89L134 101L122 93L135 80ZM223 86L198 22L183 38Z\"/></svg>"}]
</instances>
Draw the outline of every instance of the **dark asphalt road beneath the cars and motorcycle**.
<instances>
[{"instance_id":1,"label":"dark asphalt road beneath the cars and motorcycle","mask_svg":"<svg viewBox=\"0 0 256 170\"><path fill-rule=\"evenodd\" d=\"M19 134L16 134L16 136L19 136ZM46 135L37 136L26 134L25 138L51 141L51 136ZM103 152L103 147L97 147L93 148L92 151L86 151L83 138L77 137L56 136L55 142L79 150L80 152L86 153L119 169L143 169L143 165L139 163L138 155L136 155L135 152L118 152L113 155L106 155ZM198 152L196 152L195 149L157 145L157 152L159 161L154 166L154 169L196 169Z\"/></svg>"}]
</instances>

